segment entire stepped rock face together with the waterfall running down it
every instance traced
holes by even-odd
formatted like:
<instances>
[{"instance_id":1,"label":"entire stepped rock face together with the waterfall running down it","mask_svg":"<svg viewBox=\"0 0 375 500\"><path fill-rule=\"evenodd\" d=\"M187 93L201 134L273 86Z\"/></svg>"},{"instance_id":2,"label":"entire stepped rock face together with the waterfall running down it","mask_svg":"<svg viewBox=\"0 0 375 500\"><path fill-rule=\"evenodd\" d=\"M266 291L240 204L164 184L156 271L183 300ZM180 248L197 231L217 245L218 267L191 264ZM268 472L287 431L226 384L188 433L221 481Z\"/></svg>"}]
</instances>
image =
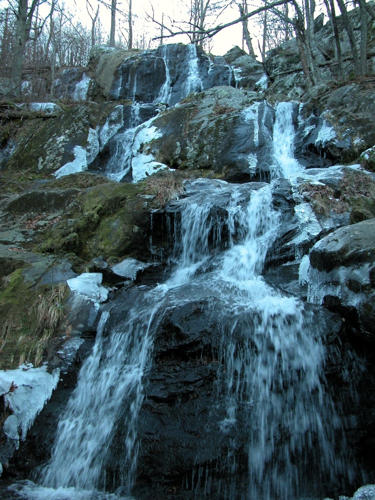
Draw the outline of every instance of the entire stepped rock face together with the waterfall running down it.
<instances>
[{"instance_id":1,"label":"entire stepped rock face together with the waterfall running down it","mask_svg":"<svg viewBox=\"0 0 375 500\"><path fill-rule=\"evenodd\" d=\"M51 453L50 487L140 500L323 497L373 477L375 179L334 164L366 148L371 167L373 92L306 93L293 44L269 54L267 89L238 47L96 47L90 79L56 83L82 102L16 109L1 362L44 349L62 383L8 477ZM59 325L35 333L47 298Z\"/></svg>"}]
</instances>

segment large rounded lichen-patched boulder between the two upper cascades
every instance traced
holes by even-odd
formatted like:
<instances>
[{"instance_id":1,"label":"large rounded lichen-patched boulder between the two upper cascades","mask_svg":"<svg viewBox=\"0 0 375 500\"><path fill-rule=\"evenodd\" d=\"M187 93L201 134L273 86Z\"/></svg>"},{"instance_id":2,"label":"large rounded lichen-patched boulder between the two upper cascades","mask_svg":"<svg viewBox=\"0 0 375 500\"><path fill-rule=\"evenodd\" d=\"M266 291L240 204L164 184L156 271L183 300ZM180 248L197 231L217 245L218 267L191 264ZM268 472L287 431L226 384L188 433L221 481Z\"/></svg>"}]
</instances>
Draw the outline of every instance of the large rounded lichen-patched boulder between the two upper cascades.
<instances>
[{"instance_id":1,"label":"large rounded lichen-patched boulder between the two upper cascades","mask_svg":"<svg viewBox=\"0 0 375 500\"><path fill-rule=\"evenodd\" d=\"M268 176L274 111L254 92L220 86L152 120L142 151L172 168L204 168L231 181Z\"/></svg>"}]
</instances>

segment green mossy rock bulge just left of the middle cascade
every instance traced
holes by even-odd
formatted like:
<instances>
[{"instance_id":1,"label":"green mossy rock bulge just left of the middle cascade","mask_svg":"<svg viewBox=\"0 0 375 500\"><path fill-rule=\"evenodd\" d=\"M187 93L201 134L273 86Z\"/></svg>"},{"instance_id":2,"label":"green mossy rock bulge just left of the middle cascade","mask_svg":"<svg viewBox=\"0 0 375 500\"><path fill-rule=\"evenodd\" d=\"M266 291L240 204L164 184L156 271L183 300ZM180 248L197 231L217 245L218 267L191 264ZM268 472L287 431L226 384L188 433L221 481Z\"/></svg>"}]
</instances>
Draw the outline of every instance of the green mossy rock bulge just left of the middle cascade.
<instances>
[{"instance_id":1,"label":"green mossy rock bulge just left of the middle cascade","mask_svg":"<svg viewBox=\"0 0 375 500\"><path fill-rule=\"evenodd\" d=\"M81 191L72 210L42 235L41 251L74 252L84 260L97 255L148 256L143 236L149 230L153 196L146 183L108 181Z\"/></svg>"}]
</instances>

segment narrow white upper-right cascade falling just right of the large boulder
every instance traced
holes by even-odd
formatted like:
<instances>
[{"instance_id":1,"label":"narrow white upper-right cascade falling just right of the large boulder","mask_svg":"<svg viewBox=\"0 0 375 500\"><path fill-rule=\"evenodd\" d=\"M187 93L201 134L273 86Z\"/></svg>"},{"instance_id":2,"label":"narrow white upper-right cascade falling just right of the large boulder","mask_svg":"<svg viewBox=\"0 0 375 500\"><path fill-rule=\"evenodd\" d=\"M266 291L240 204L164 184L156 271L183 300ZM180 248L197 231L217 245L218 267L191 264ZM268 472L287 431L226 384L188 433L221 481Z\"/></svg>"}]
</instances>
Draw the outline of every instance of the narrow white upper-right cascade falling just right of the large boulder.
<instances>
[{"instance_id":1,"label":"narrow white upper-right cascade falling just right of the large boulder","mask_svg":"<svg viewBox=\"0 0 375 500\"><path fill-rule=\"evenodd\" d=\"M271 178L288 177L302 169L294 158L292 102L279 102L273 127L273 165Z\"/></svg>"}]
</instances>

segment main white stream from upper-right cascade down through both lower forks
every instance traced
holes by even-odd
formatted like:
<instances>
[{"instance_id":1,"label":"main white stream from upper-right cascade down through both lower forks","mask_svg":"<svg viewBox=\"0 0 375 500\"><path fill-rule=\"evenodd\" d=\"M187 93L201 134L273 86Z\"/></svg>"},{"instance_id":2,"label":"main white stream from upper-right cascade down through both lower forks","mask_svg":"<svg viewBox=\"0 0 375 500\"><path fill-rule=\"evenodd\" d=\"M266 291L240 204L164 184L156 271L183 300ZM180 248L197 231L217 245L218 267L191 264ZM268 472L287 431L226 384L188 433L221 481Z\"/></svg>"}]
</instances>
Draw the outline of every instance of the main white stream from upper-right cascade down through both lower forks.
<instances>
[{"instance_id":1,"label":"main white stream from upper-right cascade down through both lower forks","mask_svg":"<svg viewBox=\"0 0 375 500\"><path fill-rule=\"evenodd\" d=\"M281 106L276 113L279 173L281 164L290 171L297 168L290 112L290 106ZM215 300L207 305L217 319L222 360L212 396L222 401L221 413L212 405L212 418L220 413L220 431L229 442L220 467L231 479L220 494L230 500L317 497L324 481L350 474L349 456L335 441L343 431L323 376L324 325L299 299L283 295L261 275L282 217L273 207L272 189L272 183L197 179L186 184L186 196L171 203L178 223L164 282L139 287L135 304L115 329L107 331L109 313L102 313L92 353L58 423L51 459L40 472L40 486L29 481L14 485L20 497L46 498L46 491L55 491L53 498L60 500L110 498L99 491L107 487L119 424L123 439L116 477L121 497L130 495L139 449L137 418L154 336L165 311L203 297L220 300L218 306ZM241 464L236 458L239 431L245 436ZM237 480L243 468L245 484L243 473ZM214 494L209 472L205 482L207 494L209 488ZM191 483L194 487L194 479Z\"/></svg>"}]
</instances>

